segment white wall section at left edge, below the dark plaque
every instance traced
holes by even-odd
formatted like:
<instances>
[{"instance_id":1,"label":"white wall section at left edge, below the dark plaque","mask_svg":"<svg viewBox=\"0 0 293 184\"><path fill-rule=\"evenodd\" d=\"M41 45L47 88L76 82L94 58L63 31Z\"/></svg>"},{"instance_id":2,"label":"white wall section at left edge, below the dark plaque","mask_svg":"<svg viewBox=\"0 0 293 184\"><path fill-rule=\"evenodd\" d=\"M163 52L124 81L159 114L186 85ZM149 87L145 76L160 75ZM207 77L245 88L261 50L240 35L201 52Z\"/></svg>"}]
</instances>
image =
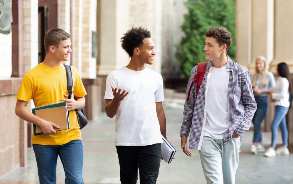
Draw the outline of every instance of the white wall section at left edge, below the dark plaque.
<instances>
[{"instance_id":1,"label":"white wall section at left edge, below the dark plaque","mask_svg":"<svg viewBox=\"0 0 293 184\"><path fill-rule=\"evenodd\" d=\"M0 79L9 78L12 73L11 50L12 40L10 34L0 33Z\"/></svg>"}]
</instances>

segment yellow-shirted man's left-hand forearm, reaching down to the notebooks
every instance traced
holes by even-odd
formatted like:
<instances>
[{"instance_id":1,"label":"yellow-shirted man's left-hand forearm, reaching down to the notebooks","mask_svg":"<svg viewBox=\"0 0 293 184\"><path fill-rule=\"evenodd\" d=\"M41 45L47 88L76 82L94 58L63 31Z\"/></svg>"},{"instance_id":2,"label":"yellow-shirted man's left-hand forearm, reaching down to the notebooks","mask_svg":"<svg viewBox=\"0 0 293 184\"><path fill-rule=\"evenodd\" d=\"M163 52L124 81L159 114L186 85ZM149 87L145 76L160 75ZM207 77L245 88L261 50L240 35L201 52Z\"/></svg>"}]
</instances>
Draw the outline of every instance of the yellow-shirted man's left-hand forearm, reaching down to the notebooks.
<instances>
[{"instance_id":1,"label":"yellow-shirted man's left-hand forearm, reaching down to the notebooks","mask_svg":"<svg viewBox=\"0 0 293 184\"><path fill-rule=\"evenodd\" d=\"M36 116L35 114L31 113L25 106L23 107L16 107L15 114L20 117L21 119L33 123L38 126L42 126L44 119Z\"/></svg>"}]
</instances>

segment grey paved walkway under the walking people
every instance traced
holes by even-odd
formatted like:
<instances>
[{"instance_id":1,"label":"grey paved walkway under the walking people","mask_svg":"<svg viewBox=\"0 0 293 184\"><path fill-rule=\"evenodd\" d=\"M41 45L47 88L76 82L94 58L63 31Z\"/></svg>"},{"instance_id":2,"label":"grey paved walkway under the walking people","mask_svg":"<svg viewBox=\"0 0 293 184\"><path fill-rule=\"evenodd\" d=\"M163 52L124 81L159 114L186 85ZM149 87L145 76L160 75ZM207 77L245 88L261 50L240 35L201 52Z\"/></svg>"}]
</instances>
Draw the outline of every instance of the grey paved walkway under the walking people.
<instances>
[{"instance_id":1,"label":"grey paved walkway under the walking people","mask_svg":"<svg viewBox=\"0 0 293 184\"><path fill-rule=\"evenodd\" d=\"M180 126L183 118L184 100L166 99L164 109L167 119L167 138L177 152L171 164L161 161L157 184L204 184L205 177L200 164L199 153L193 150L192 157L187 157L180 148ZM289 184L293 183L293 154L267 158L263 153L251 155L249 152L253 132L244 133L241 142L240 163L236 173L236 184ZM270 133L264 133L264 143L270 144ZM91 121L82 130L84 144L85 183L117 184L119 180L119 163L113 141L115 138L115 119L106 117L105 113ZM278 143L281 143L280 136ZM64 171L60 159L57 164L57 182L64 183ZM0 178L0 183L36 184L38 182L37 166L33 150L28 149L28 165L17 167ZM139 182L138 182L139 183Z\"/></svg>"}]
</instances>

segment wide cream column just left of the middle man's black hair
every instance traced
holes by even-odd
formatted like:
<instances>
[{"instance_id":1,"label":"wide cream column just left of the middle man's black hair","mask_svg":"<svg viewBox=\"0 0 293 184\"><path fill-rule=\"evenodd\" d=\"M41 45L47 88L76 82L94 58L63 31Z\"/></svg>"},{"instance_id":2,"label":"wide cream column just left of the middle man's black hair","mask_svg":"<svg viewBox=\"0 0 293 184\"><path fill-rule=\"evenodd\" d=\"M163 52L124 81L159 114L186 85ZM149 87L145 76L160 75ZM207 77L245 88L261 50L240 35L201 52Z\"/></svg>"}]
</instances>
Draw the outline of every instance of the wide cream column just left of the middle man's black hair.
<instances>
[{"instance_id":1,"label":"wide cream column just left of the middle man's black hair","mask_svg":"<svg viewBox=\"0 0 293 184\"><path fill-rule=\"evenodd\" d=\"M129 0L98 0L100 4L100 24L97 40L99 47L98 75L108 75L111 71L127 65L130 61L121 48L120 38L129 28Z\"/></svg>"}]
</instances>

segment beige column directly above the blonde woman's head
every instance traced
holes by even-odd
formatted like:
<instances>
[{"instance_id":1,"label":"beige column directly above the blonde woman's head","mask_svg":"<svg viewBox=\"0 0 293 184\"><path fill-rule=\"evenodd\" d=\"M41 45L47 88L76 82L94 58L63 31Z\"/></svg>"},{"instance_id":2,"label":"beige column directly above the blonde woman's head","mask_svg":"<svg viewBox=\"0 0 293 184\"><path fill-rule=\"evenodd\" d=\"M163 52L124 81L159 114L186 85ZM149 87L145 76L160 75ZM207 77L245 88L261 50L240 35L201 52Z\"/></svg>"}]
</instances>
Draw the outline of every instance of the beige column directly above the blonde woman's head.
<instances>
[{"instance_id":1,"label":"beige column directly above the blonde woman's head","mask_svg":"<svg viewBox=\"0 0 293 184\"><path fill-rule=\"evenodd\" d=\"M274 55L274 1L252 1L252 46L249 69L254 72L255 58L265 56L268 62Z\"/></svg>"}]
</instances>

